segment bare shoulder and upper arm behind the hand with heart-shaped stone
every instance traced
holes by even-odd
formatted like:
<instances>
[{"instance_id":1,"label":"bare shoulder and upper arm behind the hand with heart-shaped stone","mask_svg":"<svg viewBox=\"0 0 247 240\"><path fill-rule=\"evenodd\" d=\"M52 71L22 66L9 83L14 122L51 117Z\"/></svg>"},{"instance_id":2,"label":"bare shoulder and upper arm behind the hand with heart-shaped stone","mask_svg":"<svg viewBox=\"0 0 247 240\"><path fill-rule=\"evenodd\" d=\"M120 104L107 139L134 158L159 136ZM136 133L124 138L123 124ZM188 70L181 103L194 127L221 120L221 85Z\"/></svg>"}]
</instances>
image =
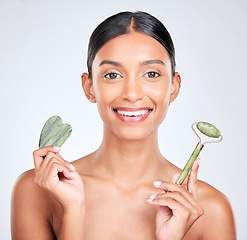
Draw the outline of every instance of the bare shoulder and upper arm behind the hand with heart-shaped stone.
<instances>
[{"instance_id":1,"label":"bare shoulder and upper arm behind the hand with heart-shaped stone","mask_svg":"<svg viewBox=\"0 0 247 240\"><path fill-rule=\"evenodd\" d=\"M11 199L12 239L54 239L49 225L50 197L35 182L35 171L21 174Z\"/></svg>"}]
</instances>

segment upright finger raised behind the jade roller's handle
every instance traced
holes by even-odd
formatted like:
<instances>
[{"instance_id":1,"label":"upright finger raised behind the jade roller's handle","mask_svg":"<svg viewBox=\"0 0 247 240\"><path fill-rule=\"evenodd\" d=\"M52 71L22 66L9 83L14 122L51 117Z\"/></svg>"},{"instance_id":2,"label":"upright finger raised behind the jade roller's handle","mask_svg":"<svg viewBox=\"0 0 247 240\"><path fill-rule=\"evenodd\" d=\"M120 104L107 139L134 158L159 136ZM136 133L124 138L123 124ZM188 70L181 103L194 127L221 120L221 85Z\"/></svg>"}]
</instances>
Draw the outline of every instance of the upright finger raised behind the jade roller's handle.
<instances>
[{"instance_id":1,"label":"upright finger raised behind the jade roller's handle","mask_svg":"<svg viewBox=\"0 0 247 240\"><path fill-rule=\"evenodd\" d=\"M188 178L188 191L192 194L194 199L198 199L198 192L197 192L197 173L199 169L199 162L200 159L197 158L192 166L191 172Z\"/></svg>"}]
</instances>

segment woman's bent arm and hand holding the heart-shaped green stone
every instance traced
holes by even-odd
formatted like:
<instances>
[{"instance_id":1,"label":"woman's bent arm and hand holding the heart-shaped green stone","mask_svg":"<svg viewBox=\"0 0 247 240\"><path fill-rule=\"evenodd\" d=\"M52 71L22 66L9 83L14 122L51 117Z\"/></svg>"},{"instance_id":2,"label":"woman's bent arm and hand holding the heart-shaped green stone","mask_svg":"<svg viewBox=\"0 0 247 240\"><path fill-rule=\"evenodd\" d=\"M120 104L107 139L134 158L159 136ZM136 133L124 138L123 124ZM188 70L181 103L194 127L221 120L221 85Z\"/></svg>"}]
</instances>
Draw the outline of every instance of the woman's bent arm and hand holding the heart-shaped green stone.
<instances>
[{"instance_id":1,"label":"woman's bent arm and hand holding the heart-shaped green stone","mask_svg":"<svg viewBox=\"0 0 247 240\"><path fill-rule=\"evenodd\" d=\"M58 240L84 235L84 188L80 175L58 150L45 147L34 151L35 171L23 174L12 195L13 239L56 239L51 227L51 201L63 209Z\"/></svg>"}]
</instances>

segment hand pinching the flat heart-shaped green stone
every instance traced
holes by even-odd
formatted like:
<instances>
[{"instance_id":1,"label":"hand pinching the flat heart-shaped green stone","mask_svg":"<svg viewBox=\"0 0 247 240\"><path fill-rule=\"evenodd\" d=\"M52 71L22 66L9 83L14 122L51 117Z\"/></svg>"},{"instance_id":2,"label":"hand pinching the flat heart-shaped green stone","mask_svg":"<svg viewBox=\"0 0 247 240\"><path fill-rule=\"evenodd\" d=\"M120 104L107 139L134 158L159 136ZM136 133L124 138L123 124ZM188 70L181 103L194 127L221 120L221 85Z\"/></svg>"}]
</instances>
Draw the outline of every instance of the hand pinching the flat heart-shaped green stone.
<instances>
[{"instance_id":1,"label":"hand pinching the flat heart-shaped green stone","mask_svg":"<svg viewBox=\"0 0 247 240\"><path fill-rule=\"evenodd\" d=\"M58 147L44 147L33 152L34 181L46 189L64 210L84 205L84 185L73 165L65 161Z\"/></svg>"}]
</instances>

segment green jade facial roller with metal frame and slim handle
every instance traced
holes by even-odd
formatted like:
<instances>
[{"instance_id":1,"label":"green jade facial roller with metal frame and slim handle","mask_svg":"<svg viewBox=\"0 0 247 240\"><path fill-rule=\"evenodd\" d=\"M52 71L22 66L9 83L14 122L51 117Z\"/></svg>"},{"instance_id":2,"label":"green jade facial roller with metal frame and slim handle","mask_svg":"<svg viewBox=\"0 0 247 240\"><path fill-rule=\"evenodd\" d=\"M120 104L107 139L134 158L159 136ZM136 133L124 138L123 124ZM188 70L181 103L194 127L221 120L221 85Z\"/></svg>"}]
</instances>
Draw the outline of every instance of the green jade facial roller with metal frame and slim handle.
<instances>
[{"instance_id":1,"label":"green jade facial roller with metal frame and slim handle","mask_svg":"<svg viewBox=\"0 0 247 240\"><path fill-rule=\"evenodd\" d=\"M203 133L204 135L206 135L208 137L211 137L211 138L217 138L217 139L219 138L219 140L216 140L216 141L206 141L206 142L202 143L200 136L195 131L195 125L196 125L197 129L201 133ZM223 139L220 131L214 125L212 125L210 123L207 123L207 122L193 123L191 127L192 127L193 131L195 132L195 134L197 135L197 137L199 138L199 142L196 145L193 153L191 154L188 162L184 166L184 169L181 172L178 180L176 181L176 184L179 184L179 185L181 185L183 183L183 181L185 180L185 178L187 177L190 169L192 168L192 165L193 165L194 161L196 160L196 158L198 157L198 155L201 152L202 148L204 147L204 144L206 144L206 143L220 142Z\"/></svg>"}]
</instances>

